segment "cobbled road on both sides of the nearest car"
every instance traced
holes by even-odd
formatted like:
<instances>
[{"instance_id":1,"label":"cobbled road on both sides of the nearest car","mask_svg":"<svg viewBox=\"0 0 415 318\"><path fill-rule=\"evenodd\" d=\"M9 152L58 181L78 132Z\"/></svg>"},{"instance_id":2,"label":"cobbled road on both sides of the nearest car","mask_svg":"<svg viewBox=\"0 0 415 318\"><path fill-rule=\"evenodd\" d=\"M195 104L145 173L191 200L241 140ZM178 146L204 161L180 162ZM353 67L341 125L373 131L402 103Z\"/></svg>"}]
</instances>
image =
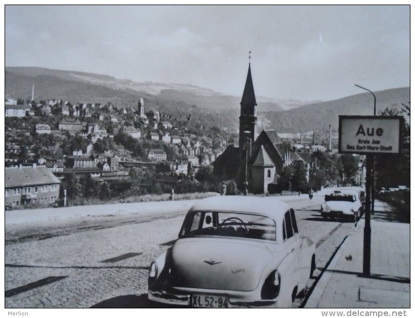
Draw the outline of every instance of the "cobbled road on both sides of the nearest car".
<instances>
[{"instance_id":1,"label":"cobbled road on both sides of the nearest car","mask_svg":"<svg viewBox=\"0 0 415 318\"><path fill-rule=\"evenodd\" d=\"M318 213L323 193L312 200L307 195L282 199L296 209L300 233L317 245L311 287L354 224L323 221ZM148 266L177 238L185 211L7 226L5 306L154 306L146 295Z\"/></svg>"}]
</instances>

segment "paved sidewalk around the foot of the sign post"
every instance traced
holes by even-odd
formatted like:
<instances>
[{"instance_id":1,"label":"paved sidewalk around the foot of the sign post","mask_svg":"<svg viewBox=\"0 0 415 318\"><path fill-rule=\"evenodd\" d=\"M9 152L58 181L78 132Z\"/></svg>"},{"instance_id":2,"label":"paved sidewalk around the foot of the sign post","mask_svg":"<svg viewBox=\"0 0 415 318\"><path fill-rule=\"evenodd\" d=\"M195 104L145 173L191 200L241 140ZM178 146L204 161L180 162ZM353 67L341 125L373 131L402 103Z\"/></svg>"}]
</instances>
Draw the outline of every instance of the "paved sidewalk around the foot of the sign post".
<instances>
[{"instance_id":1,"label":"paved sidewalk around the foot of the sign post","mask_svg":"<svg viewBox=\"0 0 415 318\"><path fill-rule=\"evenodd\" d=\"M384 202L371 216L370 276L363 277L364 216L311 291L305 308L409 308L410 225Z\"/></svg>"}]
</instances>

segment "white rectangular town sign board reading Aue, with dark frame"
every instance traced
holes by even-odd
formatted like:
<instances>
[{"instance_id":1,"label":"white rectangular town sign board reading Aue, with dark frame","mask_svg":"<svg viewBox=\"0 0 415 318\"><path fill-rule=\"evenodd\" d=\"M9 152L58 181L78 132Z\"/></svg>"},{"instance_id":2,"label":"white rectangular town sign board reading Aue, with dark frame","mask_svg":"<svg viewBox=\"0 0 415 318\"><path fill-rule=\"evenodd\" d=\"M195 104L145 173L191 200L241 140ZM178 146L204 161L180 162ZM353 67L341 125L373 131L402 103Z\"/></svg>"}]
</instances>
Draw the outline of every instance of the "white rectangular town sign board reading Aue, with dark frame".
<instances>
[{"instance_id":1,"label":"white rectangular town sign board reading Aue, with dark frame","mask_svg":"<svg viewBox=\"0 0 415 318\"><path fill-rule=\"evenodd\" d=\"M402 116L339 116L340 153L400 153Z\"/></svg>"}]
</instances>

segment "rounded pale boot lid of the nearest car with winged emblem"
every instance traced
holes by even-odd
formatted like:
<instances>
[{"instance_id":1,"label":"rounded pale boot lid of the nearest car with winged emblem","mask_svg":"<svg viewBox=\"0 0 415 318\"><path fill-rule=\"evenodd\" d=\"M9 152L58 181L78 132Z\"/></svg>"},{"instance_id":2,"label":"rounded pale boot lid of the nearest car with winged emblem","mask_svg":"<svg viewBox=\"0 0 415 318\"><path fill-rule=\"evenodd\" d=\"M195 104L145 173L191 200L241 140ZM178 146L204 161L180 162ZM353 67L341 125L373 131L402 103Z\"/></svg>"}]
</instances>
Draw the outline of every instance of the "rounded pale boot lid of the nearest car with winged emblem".
<instances>
[{"instance_id":1,"label":"rounded pale boot lid of the nearest car with winged emblem","mask_svg":"<svg viewBox=\"0 0 415 318\"><path fill-rule=\"evenodd\" d=\"M266 245L241 239L178 240L172 249L173 286L254 290L273 256Z\"/></svg>"}]
</instances>

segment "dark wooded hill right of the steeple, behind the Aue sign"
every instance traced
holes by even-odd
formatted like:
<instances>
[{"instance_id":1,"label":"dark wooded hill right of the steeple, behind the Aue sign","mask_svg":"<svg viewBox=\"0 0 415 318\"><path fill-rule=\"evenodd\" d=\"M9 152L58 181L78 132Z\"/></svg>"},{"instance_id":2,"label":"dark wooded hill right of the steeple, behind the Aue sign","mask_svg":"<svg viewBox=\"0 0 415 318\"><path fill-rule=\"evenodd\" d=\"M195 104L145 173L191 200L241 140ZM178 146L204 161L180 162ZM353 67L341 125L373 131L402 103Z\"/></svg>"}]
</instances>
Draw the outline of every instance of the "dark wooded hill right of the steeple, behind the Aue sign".
<instances>
[{"instance_id":1,"label":"dark wooded hill right of the steeple, behind the Aue sign","mask_svg":"<svg viewBox=\"0 0 415 318\"><path fill-rule=\"evenodd\" d=\"M401 103L410 101L409 87L393 88L374 92L376 96L377 115L385 108L400 107ZM361 93L330 100L308 104L294 110L284 112L259 112L259 122L264 119L278 132L299 132L308 130L328 130L328 125L337 129L339 115L373 115L374 98L370 93Z\"/></svg>"}]
</instances>

